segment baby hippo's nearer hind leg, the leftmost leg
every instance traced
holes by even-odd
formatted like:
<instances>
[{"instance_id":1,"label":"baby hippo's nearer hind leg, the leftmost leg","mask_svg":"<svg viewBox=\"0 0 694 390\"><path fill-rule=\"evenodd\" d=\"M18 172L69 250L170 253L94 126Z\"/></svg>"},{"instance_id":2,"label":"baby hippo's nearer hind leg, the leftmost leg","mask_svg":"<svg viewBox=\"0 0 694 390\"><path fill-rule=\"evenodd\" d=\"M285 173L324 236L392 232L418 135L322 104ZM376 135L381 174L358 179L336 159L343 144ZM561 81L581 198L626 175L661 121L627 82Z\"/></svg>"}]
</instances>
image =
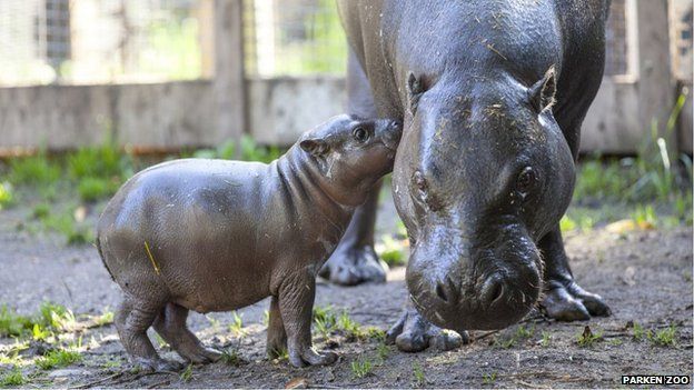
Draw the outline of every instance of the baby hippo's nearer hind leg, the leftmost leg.
<instances>
[{"instance_id":1,"label":"baby hippo's nearer hind leg, the leftmost leg","mask_svg":"<svg viewBox=\"0 0 694 390\"><path fill-rule=\"evenodd\" d=\"M181 364L161 359L147 337L159 310L151 303L125 298L116 316L116 329L133 364L148 371L177 371Z\"/></svg>"}]
</instances>

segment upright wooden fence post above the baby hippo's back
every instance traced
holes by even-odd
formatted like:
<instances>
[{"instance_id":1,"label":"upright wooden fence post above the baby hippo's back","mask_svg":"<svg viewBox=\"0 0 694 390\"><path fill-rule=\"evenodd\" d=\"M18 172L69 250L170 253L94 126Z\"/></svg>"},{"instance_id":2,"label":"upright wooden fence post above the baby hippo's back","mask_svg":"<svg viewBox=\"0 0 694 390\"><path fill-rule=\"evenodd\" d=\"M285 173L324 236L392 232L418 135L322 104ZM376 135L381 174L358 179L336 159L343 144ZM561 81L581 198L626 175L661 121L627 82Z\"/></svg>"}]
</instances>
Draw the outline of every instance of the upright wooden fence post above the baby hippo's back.
<instances>
[{"instance_id":1,"label":"upright wooden fence post above the baby hippo's back","mask_svg":"<svg viewBox=\"0 0 694 390\"><path fill-rule=\"evenodd\" d=\"M215 1L215 78L218 141L246 130L242 0Z\"/></svg>"}]
</instances>

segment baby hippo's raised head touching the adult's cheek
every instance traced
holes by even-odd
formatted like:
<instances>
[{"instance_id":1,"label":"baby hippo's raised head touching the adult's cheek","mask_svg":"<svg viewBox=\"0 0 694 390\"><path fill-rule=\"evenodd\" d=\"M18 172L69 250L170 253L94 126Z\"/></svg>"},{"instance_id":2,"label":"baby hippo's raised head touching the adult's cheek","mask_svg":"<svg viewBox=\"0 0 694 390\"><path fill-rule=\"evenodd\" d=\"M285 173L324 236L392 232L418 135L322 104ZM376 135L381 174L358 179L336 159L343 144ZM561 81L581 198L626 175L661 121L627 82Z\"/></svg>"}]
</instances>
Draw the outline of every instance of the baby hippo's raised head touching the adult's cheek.
<instances>
[{"instance_id":1,"label":"baby hippo's raised head touching the adult's cheek","mask_svg":"<svg viewBox=\"0 0 694 390\"><path fill-rule=\"evenodd\" d=\"M358 206L393 170L401 132L394 120L341 114L304 133L299 147L318 171L317 184L337 202Z\"/></svg>"}]
</instances>

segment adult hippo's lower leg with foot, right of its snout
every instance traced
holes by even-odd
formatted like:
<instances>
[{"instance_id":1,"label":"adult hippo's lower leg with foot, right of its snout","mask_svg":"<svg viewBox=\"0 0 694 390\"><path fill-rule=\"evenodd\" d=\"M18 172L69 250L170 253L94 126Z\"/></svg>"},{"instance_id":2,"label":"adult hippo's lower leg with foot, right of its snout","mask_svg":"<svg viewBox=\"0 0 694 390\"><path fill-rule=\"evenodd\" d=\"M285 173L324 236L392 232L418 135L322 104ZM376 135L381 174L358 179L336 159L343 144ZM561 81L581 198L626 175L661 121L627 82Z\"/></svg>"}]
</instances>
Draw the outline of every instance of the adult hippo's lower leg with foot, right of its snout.
<instances>
[{"instance_id":1,"label":"adult hippo's lower leg with foot, right of its snout","mask_svg":"<svg viewBox=\"0 0 694 390\"><path fill-rule=\"evenodd\" d=\"M577 321L612 313L601 296L584 290L574 280L558 227L543 237L538 247L545 256L545 298L541 306L547 316Z\"/></svg>"}]
</instances>

